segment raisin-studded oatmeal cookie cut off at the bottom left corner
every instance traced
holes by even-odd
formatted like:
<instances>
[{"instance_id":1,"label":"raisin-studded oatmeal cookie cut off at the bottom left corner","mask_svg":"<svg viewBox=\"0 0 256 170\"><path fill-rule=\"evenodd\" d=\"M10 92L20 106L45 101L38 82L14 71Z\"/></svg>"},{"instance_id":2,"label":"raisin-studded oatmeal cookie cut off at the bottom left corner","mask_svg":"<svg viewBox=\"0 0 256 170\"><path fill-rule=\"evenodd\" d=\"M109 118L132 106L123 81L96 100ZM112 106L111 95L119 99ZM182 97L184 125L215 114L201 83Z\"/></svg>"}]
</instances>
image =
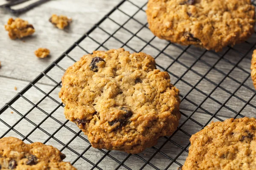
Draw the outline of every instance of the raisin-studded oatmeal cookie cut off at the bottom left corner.
<instances>
[{"instance_id":1,"label":"raisin-studded oatmeal cookie cut off at the bottom left corner","mask_svg":"<svg viewBox=\"0 0 256 170\"><path fill-rule=\"evenodd\" d=\"M0 139L1 170L76 170L66 156L52 146L35 142L25 144L14 137Z\"/></svg>"}]
</instances>

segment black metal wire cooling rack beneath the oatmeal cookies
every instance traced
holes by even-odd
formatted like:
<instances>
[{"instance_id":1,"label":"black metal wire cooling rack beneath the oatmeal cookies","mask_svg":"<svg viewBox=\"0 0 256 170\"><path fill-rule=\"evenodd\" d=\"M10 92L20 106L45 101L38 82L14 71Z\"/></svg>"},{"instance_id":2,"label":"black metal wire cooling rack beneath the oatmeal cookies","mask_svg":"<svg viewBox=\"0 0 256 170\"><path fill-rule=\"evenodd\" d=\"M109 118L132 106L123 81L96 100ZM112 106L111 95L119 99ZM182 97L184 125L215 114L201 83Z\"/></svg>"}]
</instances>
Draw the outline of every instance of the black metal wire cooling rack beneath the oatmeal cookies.
<instances>
[{"instance_id":1,"label":"black metal wire cooling rack beneath the oatmeal cookies","mask_svg":"<svg viewBox=\"0 0 256 170\"><path fill-rule=\"evenodd\" d=\"M206 51L192 46L180 46L164 40L157 40L157 37L150 37L148 36L148 33L146 33L145 37L140 36L141 32L148 30L148 25L145 20L142 21L141 18L137 18L138 15L142 16L141 13L145 13L146 3L146 0L122 0L105 17L103 17L102 20L65 51L61 57L49 65L45 71L30 82L29 85L20 91L20 93L18 93L10 102L6 103L0 110L0 123L3 124L0 124L0 128L3 128L3 130L1 130L2 132L0 132L1 138L17 134L17 136L23 138L23 141L36 142L31 140L34 138L33 134L35 132L38 134L39 131L41 131L41 133L46 135L46 137L43 136L41 138L43 143L49 144L50 141L53 140L52 143L55 144L54 146L56 147L56 145L58 145L58 148L67 154L67 159L73 156L72 159L67 161L72 161L72 164L80 169L175 170L177 167L182 166L186 159L190 144L189 138L191 135L205 127L209 122L212 120L223 121L229 117L254 116L253 111L256 111L256 103L254 102L256 91L252 86L250 72L247 68L250 67L250 54L255 48L256 42L253 42L253 39L250 39L243 45L227 47L223 52L215 53L213 51ZM125 11L125 9L128 9L128 11ZM130 11L133 11L132 14L129 14ZM118 17L116 18L116 16ZM108 22L114 23L116 28L113 29L112 25L108 22L105 24L107 20ZM127 27L131 26L130 22L136 23L136 26L138 26L136 31L134 31L133 28ZM125 41L123 41L122 38L126 38L126 36L121 35L118 37L120 30L130 34ZM104 36L100 36L100 38L97 37L97 31L104 33L106 38ZM110 33L111 31L113 32ZM89 44L87 40L93 43ZM134 40L136 40L136 43ZM57 114L55 115L59 109L63 109L64 107L59 99L52 96L55 91L58 92L59 88L61 88L61 75L64 73L65 68L70 65L69 62L67 62L67 59L76 62L76 60L79 59L76 57L81 57L81 55L78 56L76 55L77 53L73 53L73 51L79 49L83 54L88 54L93 50L108 50L111 48L111 45L113 45L113 41L115 41L115 45L119 43L119 47L125 47L125 49L132 52L150 51L153 53L153 56L157 61L157 67L160 70L167 71L171 76L171 80L175 79L173 84L178 88L182 88L180 89L180 97L182 101L180 111L182 118L177 130L172 136L165 136L160 139L157 146L149 148L140 154L131 155L118 151L93 149L91 148L87 137L81 133L81 130L77 130L77 127L75 128L75 125L68 120L64 121L59 118ZM94 46L92 44L94 44ZM133 44L136 45L133 46ZM87 48L88 46L90 46L90 49ZM169 53L169 48L171 48L172 51L176 51L175 53L177 53L177 55L173 56L172 52ZM209 60L209 58L211 58L209 56L215 56L213 59L214 61L211 61L211 59ZM163 59L165 62L162 61ZM166 62L167 60L169 62ZM189 64L187 64L188 61ZM220 62L225 62L224 68L218 67ZM175 69L177 65L179 65L179 69ZM201 67L201 65L204 65L204 67ZM247 67L244 68L244 65L247 65ZM202 73L201 68L203 69L206 67L207 69ZM61 71L61 74L58 74L56 70ZM175 70L177 73L175 73ZM210 74L220 75L221 77L216 77L216 75L209 76ZM190 77L192 77L192 79L189 79ZM216 81L216 79L213 80L212 77L216 77L218 81ZM45 90L42 90L39 87L42 79L47 79L47 81L54 84L50 87L48 92L45 92ZM227 79L229 81L225 84ZM200 88L201 83L205 84L203 87L211 86L212 88L210 90L208 89L209 91L206 92L205 89ZM35 89L37 93L42 94L41 99L37 102L32 102L31 99L26 97L26 93L29 93L32 88ZM215 93L218 91L222 92L217 93L216 95ZM239 91L241 92L239 93ZM222 96L224 93L226 95ZM218 97L219 94L221 94L220 97ZM198 98L200 98L199 101ZM19 99L23 99L31 105L28 108L28 111L21 113L19 109L13 106ZM46 111L41 107L41 103L47 103L49 100L54 102L55 106L53 107L53 110ZM207 107L209 103L214 103L214 105ZM247 108L248 106L250 107ZM45 116L37 122L32 120L32 117L29 116L35 109L38 109L40 113L43 113ZM20 116L15 116L17 120L15 119L15 122L12 123L12 125L9 125L10 123L1 117L9 110L14 111L15 114ZM9 116L9 118L11 118L11 116ZM49 129L46 130L47 128L43 126L44 123L49 121L49 118L54 120L54 125L57 125L58 127L51 132L49 132ZM20 132L18 128L18 125L24 120L33 125L32 130L29 130L28 133ZM195 126L197 126L197 128L194 128ZM65 142L58 137L58 133L63 129L72 134L72 137ZM62 138L64 137L65 136L62 136ZM87 144L87 146L82 147L80 151L74 149L72 144L74 140L78 139ZM93 153L99 153L94 160L90 159L90 156L92 156ZM102 164L102 162L104 162L104 164ZM110 165L106 166L105 164L108 162Z\"/></svg>"}]
</instances>

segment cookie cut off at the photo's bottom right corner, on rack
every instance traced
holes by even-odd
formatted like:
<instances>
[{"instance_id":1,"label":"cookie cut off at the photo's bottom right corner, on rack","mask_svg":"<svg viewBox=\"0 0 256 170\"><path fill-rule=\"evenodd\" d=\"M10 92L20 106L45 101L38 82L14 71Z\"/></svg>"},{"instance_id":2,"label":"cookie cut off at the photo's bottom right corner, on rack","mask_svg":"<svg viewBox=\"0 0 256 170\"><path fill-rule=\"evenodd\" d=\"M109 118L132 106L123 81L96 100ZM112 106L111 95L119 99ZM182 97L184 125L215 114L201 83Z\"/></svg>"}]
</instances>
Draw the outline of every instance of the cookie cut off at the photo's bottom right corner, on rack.
<instances>
[{"instance_id":1,"label":"cookie cut off at the photo's bottom right corner, on rack","mask_svg":"<svg viewBox=\"0 0 256 170\"><path fill-rule=\"evenodd\" d=\"M256 119L214 122L190 138L182 170L256 170Z\"/></svg>"}]
</instances>

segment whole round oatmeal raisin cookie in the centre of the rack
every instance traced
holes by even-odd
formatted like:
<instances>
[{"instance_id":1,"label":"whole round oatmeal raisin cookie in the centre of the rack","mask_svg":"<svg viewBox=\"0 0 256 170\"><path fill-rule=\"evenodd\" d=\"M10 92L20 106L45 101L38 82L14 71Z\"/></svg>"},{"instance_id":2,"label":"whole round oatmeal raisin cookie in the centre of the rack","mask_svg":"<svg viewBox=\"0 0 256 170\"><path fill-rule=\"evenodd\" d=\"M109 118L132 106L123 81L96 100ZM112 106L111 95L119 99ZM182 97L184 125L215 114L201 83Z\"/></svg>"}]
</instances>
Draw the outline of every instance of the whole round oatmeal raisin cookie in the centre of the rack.
<instances>
[{"instance_id":1,"label":"whole round oatmeal raisin cookie in the centre of the rack","mask_svg":"<svg viewBox=\"0 0 256 170\"><path fill-rule=\"evenodd\" d=\"M67 69L59 96L93 147L140 153L179 123L179 91L169 78L145 53L94 51Z\"/></svg>"}]
</instances>

